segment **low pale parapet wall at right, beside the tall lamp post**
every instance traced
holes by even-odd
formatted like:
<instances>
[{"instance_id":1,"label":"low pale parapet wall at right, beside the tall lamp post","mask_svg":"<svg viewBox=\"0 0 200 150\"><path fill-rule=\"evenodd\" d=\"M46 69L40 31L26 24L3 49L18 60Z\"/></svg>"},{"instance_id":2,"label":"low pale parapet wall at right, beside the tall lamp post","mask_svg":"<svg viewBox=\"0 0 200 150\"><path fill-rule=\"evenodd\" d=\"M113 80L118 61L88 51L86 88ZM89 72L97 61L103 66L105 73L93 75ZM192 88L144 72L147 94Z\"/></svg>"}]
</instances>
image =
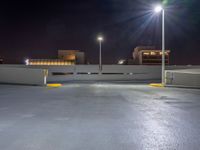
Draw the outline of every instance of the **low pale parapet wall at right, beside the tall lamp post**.
<instances>
[{"instance_id":1,"label":"low pale parapet wall at right, beside the tall lamp post","mask_svg":"<svg viewBox=\"0 0 200 150\"><path fill-rule=\"evenodd\" d=\"M166 86L200 88L200 69L167 70Z\"/></svg>"}]
</instances>

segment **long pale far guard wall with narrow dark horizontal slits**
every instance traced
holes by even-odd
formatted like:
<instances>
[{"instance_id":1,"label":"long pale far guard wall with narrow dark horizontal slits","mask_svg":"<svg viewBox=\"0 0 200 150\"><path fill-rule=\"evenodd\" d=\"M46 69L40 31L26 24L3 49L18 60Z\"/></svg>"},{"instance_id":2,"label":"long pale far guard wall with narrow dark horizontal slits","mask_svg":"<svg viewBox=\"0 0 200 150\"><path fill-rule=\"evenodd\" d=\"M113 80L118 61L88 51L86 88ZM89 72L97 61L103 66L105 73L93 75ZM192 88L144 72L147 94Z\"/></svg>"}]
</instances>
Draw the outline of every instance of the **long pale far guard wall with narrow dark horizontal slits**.
<instances>
[{"instance_id":1,"label":"long pale far guard wall with narrow dark horizontal slits","mask_svg":"<svg viewBox=\"0 0 200 150\"><path fill-rule=\"evenodd\" d=\"M167 69L172 70L185 68L200 68L200 66L167 66ZM50 66L48 71L48 82L84 80L156 82L161 80L161 66L103 65L102 71L99 71L98 65ZM55 75L55 73L58 73L58 75ZM59 73L62 75L59 75Z\"/></svg>"}]
</instances>

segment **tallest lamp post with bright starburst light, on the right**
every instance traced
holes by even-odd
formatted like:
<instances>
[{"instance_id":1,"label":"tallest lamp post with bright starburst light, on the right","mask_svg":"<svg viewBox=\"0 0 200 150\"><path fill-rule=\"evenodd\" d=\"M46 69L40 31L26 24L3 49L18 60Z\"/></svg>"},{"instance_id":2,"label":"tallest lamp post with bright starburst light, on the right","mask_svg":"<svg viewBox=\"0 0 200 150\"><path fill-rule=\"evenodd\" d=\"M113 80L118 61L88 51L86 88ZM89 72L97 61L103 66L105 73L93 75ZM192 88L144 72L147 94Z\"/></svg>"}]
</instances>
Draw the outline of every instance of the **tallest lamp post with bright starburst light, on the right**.
<instances>
[{"instance_id":1,"label":"tallest lamp post with bright starburst light, on the right","mask_svg":"<svg viewBox=\"0 0 200 150\"><path fill-rule=\"evenodd\" d=\"M165 10L161 5L157 5L154 11L162 12L162 84L165 85Z\"/></svg>"}]
</instances>

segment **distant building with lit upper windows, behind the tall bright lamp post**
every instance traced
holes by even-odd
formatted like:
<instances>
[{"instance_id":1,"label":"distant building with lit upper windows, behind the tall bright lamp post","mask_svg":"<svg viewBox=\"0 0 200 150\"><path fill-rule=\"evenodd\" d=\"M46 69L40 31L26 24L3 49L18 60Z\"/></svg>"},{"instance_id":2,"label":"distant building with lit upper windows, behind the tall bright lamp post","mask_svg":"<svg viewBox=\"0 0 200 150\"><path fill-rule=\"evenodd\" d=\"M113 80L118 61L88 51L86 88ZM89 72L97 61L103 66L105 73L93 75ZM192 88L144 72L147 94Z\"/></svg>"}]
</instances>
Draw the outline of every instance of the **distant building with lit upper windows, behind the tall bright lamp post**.
<instances>
[{"instance_id":1,"label":"distant building with lit upper windows, behind the tall bright lamp post","mask_svg":"<svg viewBox=\"0 0 200 150\"><path fill-rule=\"evenodd\" d=\"M162 50L155 50L152 46L139 46L133 52L134 64L160 65L162 64ZM170 63L170 50L165 50L165 64Z\"/></svg>"}]
</instances>

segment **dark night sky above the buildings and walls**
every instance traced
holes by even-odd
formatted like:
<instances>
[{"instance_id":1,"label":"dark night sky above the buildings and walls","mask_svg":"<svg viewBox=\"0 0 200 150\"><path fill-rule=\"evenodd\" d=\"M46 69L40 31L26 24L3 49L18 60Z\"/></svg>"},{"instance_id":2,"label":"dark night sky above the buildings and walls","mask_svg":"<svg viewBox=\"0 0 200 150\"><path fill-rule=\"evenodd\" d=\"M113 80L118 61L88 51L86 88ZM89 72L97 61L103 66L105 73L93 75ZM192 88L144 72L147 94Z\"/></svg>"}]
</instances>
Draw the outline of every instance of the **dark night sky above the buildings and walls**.
<instances>
[{"instance_id":1,"label":"dark night sky above the buildings and walls","mask_svg":"<svg viewBox=\"0 0 200 150\"><path fill-rule=\"evenodd\" d=\"M103 62L131 58L138 45L161 45L161 17L156 0L4 1L0 3L0 57L8 63L25 58L55 58L57 49L86 52L98 62L102 34ZM172 64L200 64L200 1L164 0L166 48Z\"/></svg>"}]
</instances>

